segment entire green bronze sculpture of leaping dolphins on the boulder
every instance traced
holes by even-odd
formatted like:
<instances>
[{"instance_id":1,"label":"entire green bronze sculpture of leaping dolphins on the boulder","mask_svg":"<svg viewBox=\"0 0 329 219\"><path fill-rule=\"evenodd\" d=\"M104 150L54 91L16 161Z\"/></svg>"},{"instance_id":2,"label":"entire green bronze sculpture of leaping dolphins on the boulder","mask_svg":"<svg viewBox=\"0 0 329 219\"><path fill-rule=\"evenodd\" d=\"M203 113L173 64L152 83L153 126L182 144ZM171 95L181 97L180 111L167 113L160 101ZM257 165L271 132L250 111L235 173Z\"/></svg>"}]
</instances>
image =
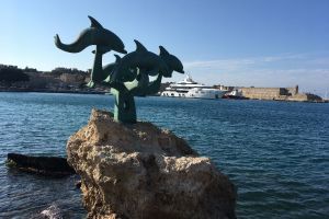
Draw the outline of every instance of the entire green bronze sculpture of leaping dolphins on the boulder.
<instances>
[{"instance_id":1,"label":"entire green bronze sculpture of leaping dolphins on the boulder","mask_svg":"<svg viewBox=\"0 0 329 219\"><path fill-rule=\"evenodd\" d=\"M127 54L123 42L111 31L104 28L95 19L88 16L91 26L83 30L76 42L61 43L55 36L55 45L68 53L80 53L88 46L94 45L93 67L88 87L102 84L111 88L115 96L114 119L121 123L136 123L134 96L145 96L159 91L162 77L170 78L173 71L184 73L182 62L159 46L160 54L148 51L135 39L136 50ZM116 60L103 67L103 55L114 50L126 54L124 57L114 55ZM150 81L149 77L156 77Z\"/></svg>"}]
</instances>

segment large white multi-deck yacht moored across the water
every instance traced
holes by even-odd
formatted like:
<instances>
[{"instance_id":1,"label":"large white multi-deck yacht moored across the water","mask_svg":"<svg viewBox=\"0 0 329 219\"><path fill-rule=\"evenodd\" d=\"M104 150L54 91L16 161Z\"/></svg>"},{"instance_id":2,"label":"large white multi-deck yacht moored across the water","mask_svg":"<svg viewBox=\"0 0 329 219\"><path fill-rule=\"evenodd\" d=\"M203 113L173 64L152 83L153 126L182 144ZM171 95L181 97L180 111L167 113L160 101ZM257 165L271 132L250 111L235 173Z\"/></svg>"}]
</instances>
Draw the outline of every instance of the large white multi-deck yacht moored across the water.
<instances>
[{"instance_id":1,"label":"large white multi-deck yacht moored across the water","mask_svg":"<svg viewBox=\"0 0 329 219\"><path fill-rule=\"evenodd\" d=\"M192 80L190 74L183 81L171 83L161 93L161 96L190 97L190 99L222 99L226 91L213 89Z\"/></svg>"}]
</instances>

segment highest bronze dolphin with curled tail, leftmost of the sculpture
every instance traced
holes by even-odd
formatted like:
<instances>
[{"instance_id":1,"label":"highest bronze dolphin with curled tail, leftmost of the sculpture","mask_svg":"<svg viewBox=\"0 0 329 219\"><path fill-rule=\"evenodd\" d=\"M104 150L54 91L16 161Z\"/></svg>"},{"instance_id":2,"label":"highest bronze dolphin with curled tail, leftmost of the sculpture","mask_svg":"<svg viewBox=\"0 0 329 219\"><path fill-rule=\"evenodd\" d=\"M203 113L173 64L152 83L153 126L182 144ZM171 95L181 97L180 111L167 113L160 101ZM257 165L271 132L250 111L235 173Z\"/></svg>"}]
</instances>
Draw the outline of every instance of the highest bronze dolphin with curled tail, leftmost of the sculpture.
<instances>
[{"instance_id":1,"label":"highest bronze dolphin with curled tail, leftmost of the sculpture","mask_svg":"<svg viewBox=\"0 0 329 219\"><path fill-rule=\"evenodd\" d=\"M105 53L115 50L127 54L123 42L111 31L104 28L95 19L88 16L91 25L83 30L78 38L71 44L63 44L58 34L55 36L55 45L68 53L80 53L90 45L102 46Z\"/></svg>"}]
</instances>

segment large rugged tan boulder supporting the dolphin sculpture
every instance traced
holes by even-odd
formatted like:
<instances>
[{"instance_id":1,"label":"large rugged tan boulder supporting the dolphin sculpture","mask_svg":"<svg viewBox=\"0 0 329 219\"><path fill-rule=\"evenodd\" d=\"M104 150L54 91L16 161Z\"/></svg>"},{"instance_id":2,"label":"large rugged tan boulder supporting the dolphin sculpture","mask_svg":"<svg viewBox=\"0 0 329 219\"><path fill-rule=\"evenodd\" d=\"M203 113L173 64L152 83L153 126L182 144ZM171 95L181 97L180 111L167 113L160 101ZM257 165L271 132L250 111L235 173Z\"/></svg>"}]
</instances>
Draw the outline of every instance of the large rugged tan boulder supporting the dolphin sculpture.
<instances>
[{"instance_id":1,"label":"large rugged tan boulder supporting the dolphin sculpture","mask_svg":"<svg viewBox=\"0 0 329 219\"><path fill-rule=\"evenodd\" d=\"M208 158L150 123L93 110L67 143L89 218L235 218L236 191Z\"/></svg>"}]
</instances>

